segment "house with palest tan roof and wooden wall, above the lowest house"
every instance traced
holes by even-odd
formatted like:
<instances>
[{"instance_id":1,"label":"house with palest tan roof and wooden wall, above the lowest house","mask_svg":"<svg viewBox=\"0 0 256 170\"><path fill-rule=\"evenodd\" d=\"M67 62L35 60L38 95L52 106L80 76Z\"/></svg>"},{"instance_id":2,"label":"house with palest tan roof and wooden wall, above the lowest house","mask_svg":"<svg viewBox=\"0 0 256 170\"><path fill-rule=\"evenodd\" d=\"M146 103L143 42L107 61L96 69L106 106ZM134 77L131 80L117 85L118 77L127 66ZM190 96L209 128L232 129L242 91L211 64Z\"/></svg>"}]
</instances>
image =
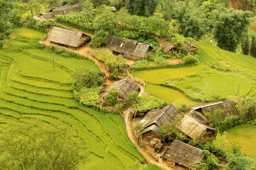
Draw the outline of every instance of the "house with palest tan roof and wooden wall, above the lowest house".
<instances>
[{"instance_id":1,"label":"house with palest tan roof and wooden wall, above the lowest house","mask_svg":"<svg viewBox=\"0 0 256 170\"><path fill-rule=\"evenodd\" d=\"M202 142L212 139L213 132L216 131L216 129L212 128L210 125L188 115L183 117L180 127L180 131L187 136L188 140L199 137L205 131L204 140Z\"/></svg>"}]
</instances>

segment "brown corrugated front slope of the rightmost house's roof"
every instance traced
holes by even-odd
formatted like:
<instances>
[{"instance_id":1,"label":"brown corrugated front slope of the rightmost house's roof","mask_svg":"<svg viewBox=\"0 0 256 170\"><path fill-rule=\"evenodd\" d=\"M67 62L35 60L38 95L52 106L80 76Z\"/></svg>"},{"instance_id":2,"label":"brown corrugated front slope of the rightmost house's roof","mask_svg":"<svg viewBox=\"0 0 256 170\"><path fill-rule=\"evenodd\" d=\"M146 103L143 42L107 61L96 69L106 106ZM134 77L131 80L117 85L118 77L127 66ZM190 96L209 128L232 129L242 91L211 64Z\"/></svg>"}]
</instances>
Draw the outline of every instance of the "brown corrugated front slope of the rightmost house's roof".
<instances>
[{"instance_id":1,"label":"brown corrugated front slope of the rightmost house's roof","mask_svg":"<svg viewBox=\"0 0 256 170\"><path fill-rule=\"evenodd\" d=\"M218 103L215 105L211 105L211 106L204 106L202 107L202 111L203 113L208 112L208 113L212 113L217 110L217 109L224 109L226 110L225 114L223 114L221 116L222 120L225 119L225 117L229 114L229 115L239 115L233 101L226 101L226 102L222 102L222 103Z\"/></svg>"}]
</instances>

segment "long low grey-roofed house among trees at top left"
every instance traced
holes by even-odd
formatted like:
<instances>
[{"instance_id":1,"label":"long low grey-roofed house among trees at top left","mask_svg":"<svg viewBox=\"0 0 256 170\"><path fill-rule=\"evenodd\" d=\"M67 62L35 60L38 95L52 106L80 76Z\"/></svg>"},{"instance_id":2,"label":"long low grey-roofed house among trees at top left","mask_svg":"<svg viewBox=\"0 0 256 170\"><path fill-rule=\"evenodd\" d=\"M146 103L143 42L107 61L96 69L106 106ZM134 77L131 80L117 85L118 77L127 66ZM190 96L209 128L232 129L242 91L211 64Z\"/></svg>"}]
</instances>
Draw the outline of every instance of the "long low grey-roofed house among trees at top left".
<instances>
[{"instance_id":1,"label":"long low grey-roofed house among trees at top left","mask_svg":"<svg viewBox=\"0 0 256 170\"><path fill-rule=\"evenodd\" d=\"M68 6L53 8L50 11L41 13L38 16L34 16L33 18L36 20L54 19L55 15L65 15L70 12L81 12L81 11L83 11L83 8L80 4L68 5Z\"/></svg>"}]
</instances>

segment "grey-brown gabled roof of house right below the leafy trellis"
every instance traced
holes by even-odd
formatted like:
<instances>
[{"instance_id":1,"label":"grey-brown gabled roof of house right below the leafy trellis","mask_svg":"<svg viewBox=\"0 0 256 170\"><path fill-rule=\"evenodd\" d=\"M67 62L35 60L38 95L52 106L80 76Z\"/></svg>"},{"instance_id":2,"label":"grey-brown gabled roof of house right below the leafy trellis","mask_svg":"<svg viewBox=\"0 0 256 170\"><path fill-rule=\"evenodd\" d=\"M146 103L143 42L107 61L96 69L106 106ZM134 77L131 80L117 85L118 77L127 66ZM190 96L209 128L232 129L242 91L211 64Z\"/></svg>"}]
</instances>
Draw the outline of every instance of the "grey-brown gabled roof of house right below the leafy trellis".
<instances>
[{"instance_id":1,"label":"grey-brown gabled roof of house right below the leafy trellis","mask_svg":"<svg viewBox=\"0 0 256 170\"><path fill-rule=\"evenodd\" d=\"M141 119L140 123L146 128L152 124L156 124L158 127L161 127L165 123L171 123L176 115L180 114L180 112L172 105L169 104L161 109L154 109L149 111L143 119Z\"/></svg>"}]
</instances>

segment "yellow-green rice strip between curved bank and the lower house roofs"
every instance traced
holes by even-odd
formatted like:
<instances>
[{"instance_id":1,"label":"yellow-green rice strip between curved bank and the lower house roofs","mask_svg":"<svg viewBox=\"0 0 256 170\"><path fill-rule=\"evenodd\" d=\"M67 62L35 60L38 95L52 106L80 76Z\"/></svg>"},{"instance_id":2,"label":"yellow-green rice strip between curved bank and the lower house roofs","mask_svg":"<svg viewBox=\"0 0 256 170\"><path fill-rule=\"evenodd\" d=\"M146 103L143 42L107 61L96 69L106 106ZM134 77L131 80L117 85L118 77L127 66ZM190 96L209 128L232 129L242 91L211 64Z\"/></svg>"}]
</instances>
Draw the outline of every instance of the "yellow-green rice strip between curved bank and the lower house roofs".
<instances>
[{"instance_id":1,"label":"yellow-green rice strip between curved bank and the lower house roofs","mask_svg":"<svg viewBox=\"0 0 256 170\"><path fill-rule=\"evenodd\" d=\"M146 83L145 92L148 92L152 96L155 96L156 98L166 100L168 104L172 103L175 107L181 108L182 103L186 103L187 107L200 105L201 102L195 102L192 100L189 100L187 97L184 96L181 92L177 90L173 90L171 88L167 88L164 86L159 85L151 85Z\"/></svg>"}]
</instances>

